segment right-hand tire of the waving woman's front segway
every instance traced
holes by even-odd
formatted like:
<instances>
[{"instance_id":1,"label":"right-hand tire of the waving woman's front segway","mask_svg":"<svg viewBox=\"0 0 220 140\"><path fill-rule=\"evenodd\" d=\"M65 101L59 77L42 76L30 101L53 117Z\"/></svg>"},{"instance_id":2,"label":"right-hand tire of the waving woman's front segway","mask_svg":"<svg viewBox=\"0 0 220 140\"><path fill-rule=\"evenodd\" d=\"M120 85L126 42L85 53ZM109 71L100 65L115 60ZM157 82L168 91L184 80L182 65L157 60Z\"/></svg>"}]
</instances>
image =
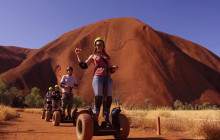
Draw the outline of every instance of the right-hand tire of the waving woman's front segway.
<instances>
[{"instance_id":1,"label":"right-hand tire of the waving woman's front segway","mask_svg":"<svg viewBox=\"0 0 220 140\"><path fill-rule=\"evenodd\" d=\"M126 139L130 132L130 124L128 118L124 114L119 114L120 131L114 135L115 139Z\"/></svg>"}]
</instances>

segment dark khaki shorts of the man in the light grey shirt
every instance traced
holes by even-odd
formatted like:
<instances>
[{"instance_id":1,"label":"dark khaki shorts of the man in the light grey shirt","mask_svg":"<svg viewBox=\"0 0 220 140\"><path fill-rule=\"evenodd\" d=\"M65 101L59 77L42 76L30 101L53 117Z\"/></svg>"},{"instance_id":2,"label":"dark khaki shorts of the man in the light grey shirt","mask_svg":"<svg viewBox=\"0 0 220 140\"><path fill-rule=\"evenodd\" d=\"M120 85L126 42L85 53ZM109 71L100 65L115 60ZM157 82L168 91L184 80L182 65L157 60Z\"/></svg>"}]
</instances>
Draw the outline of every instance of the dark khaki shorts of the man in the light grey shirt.
<instances>
[{"instance_id":1,"label":"dark khaki shorts of the man in the light grey shirt","mask_svg":"<svg viewBox=\"0 0 220 140\"><path fill-rule=\"evenodd\" d=\"M62 94L62 107L66 108L67 105L68 105L68 108L73 107L73 94L64 92Z\"/></svg>"}]
</instances>

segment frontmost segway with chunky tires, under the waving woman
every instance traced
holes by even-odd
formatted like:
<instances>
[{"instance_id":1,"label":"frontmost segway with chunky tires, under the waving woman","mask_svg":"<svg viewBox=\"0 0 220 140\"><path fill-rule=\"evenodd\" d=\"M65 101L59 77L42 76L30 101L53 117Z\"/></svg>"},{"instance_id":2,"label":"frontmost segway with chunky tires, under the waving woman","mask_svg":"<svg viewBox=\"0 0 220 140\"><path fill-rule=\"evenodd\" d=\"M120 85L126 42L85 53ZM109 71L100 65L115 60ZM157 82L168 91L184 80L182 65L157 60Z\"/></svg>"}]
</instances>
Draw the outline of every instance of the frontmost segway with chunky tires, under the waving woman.
<instances>
[{"instance_id":1,"label":"frontmost segway with chunky tires, under the waving woman","mask_svg":"<svg viewBox=\"0 0 220 140\"><path fill-rule=\"evenodd\" d=\"M103 88L103 110L106 109L108 70L105 74L105 82ZM104 111L103 111L104 112ZM91 140L93 136L113 135L115 139L126 139L130 132L128 118L124 114L120 114L120 107L114 108L110 115L110 125L102 122L100 127L94 127L95 114L91 107L77 112L76 118L76 134L78 140Z\"/></svg>"}]
</instances>

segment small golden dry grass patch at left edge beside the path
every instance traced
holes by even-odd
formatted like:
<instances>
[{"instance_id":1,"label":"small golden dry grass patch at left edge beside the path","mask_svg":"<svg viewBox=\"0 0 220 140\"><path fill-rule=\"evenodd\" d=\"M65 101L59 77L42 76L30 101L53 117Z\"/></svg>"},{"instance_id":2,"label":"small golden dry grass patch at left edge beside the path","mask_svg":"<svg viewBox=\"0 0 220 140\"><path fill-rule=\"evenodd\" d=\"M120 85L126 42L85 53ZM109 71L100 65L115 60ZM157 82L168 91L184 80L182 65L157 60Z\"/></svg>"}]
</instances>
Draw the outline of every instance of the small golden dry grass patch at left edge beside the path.
<instances>
[{"instance_id":1,"label":"small golden dry grass patch at left edge beside the path","mask_svg":"<svg viewBox=\"0 0 220 140\"><path fill-rule=\"evenodd\" d=\"M15 109L8 106L0 105L0 123L18 116L19 115L16 113Z\"/></svg>"}]
</instances>

